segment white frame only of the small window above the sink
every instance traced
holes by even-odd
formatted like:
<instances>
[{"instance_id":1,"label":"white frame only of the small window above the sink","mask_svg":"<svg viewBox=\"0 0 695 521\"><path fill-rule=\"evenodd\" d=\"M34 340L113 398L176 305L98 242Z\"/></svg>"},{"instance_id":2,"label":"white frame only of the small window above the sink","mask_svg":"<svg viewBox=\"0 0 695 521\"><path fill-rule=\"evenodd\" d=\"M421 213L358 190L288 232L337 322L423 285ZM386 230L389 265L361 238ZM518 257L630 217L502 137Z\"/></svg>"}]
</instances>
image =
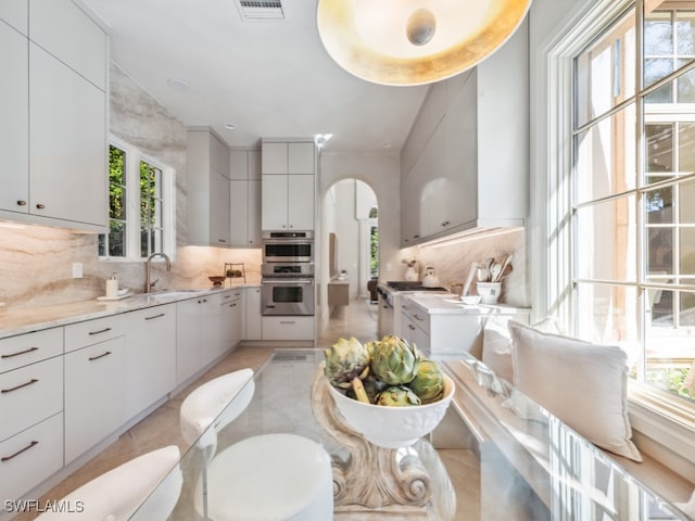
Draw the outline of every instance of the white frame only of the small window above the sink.
<instances>
[{"instance_id":1,"label":"white frame only of the small window above the sink","mask_svg":"<svg viewBox=\"0 0 695 521\"><path fill-rule=\"evenodd\" d=\"M147 260L140 255L140 162L148 163L162 171L162 252L174 259L176 256L176 170L156 157L150 156L137 147L113 136L109 145L125 152L126 170L126 254L123 257L100 256L101 260L134 262ZM106 176L109 171L106 171ZM134 187L137 187L134 189Z\"/></svg>"}]
</instances>

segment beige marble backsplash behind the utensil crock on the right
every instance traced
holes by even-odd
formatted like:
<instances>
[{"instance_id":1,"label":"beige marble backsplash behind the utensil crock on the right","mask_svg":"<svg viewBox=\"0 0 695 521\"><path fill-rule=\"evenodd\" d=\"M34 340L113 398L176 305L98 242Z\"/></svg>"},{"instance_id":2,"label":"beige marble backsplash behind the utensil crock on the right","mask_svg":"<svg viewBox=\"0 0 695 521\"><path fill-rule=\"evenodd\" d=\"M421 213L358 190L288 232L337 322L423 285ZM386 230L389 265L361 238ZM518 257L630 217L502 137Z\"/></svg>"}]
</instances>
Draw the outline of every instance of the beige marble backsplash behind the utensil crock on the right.
<instances>
[{"instance_id":1,"label":"beige marble backsplash behind the utensil crock on the right","mask_svg":"<svg viewBox=\"0 0 695 521\"><path fill-rule=\"evenodd\" d=\"M434 267L442 285L465 283L472 263L482 264L486 258L503 260L514 255L513 271L502 282L501 303L530 307L530 288L527 272L526 233L523 229L496 229L489 233L464 237L456 242L409 247L401 252L403 258L417 258L420 279L427 266ZM403 265L405 275L406 266ZM469 291L476 293L476 279Z\"/></svg>"}]
</instances>

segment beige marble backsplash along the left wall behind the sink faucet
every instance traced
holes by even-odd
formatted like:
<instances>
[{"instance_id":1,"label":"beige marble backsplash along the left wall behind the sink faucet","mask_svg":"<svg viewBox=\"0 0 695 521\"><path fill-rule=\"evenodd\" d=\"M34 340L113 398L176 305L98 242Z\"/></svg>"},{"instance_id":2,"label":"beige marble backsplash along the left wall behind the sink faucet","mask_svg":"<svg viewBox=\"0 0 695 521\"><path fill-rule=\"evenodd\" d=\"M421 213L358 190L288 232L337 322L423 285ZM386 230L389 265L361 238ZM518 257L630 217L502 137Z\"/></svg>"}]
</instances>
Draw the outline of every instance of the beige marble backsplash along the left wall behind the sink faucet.
<instances>
[{"instance_id":1,"label":"beige marble backsplash along the left wall behind the sink faucet","mask_svg":"<svg viewBox=\"0 0 695 521\"><path fill-rule=\"evenodd\" d=\"M5 228L0 224L0 302L25 308L65 304L104 294L105 280L115 272L121 288L144 290L143 262L109 262L97 256L97 236L40 226ZM18 225L20 226L20 225ZM83 277L73 278L81 263ZM223 275L225 263L243 263L248 283L261 280L261 250L178 247L172 270L152 263L157 289L210 288L208 276ZM228 279L227 284L238 279Z\"/></svg>"}]
</instances>

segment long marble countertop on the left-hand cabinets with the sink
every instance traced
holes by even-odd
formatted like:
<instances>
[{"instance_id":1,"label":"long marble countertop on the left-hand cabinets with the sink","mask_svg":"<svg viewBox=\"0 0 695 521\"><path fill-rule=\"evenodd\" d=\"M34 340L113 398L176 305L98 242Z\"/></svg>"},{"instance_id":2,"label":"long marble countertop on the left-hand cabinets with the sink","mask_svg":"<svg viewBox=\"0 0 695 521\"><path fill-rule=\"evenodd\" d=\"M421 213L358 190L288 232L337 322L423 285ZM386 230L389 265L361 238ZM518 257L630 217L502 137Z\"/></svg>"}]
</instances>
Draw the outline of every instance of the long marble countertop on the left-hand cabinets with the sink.
<instances>
[{"instance_id":1,"label":"long marble countertop on the left-hand cabinets with the sink","mask_svg":"<svg viewBox=\"0 0 695 521\"><path fill-rule=\"evenodd\" d=\"M258 288L260 284L232 284L227 288L186 288L154 293L136 293L121 300L72 302L41 307L13 309L0 307L0 339L30 333L41 329L56 328L68 323L134 312L173 302L195 298L200 295L220 293L236 288Z\"/></svg>"}]
</instances>

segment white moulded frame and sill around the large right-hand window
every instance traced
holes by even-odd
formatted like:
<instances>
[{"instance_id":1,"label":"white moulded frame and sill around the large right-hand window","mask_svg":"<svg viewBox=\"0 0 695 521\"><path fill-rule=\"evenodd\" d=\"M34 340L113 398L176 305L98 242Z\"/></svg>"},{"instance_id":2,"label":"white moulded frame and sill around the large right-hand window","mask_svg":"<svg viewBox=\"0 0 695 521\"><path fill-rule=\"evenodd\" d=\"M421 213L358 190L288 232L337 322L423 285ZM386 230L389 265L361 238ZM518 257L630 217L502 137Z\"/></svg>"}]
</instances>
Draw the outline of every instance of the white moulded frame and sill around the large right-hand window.
<instances>
[{"instance_id":1,"label":"white moulded frame and sill around the large right-hand window","mask_svg":"<svg viewBox=\"0 0 695 521\"><path fill-rule=\"evenodd\" d=\"M543 252L538 259L534 276L539 288L534 290L536 318L552 314L563 323L571 325L574 313L572 292L572 226L568 218L572 211L572 110L573 59L595 35L596 27L607 27L634 2L597 0L591 7L573 13L573 20L556 35L539 56L536 76L547 89L544 99L531 100L531 109L545 104L547 127L536 135L545 141L545 153L532 158L534 168L544 168L545 182L535 179L532 192L547 205L536 206L532 219L544 225L543 230L531 230L531 247ZM637 18L641 21L641 15ZM640 22L637 22L640 23ZM545 60L543 62L543 60ZM545 287L542 288L541 284ZM536 306L534 306L535 308ZM633 430L639 433L641 448L683 475L695 470L695 406L669 393L630 380L629 416Z\"/></svg>"}]
</instances>

